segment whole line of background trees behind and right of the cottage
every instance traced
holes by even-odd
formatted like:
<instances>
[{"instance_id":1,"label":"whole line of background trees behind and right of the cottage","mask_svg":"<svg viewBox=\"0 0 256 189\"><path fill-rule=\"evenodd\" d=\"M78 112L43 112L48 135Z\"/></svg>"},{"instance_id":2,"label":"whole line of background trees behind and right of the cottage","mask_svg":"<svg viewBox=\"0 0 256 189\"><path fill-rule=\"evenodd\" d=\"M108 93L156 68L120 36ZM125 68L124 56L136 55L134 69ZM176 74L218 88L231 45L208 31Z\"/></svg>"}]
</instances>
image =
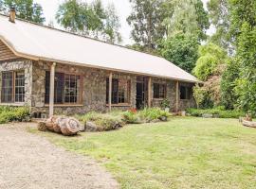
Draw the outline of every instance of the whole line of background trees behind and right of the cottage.
<instances>
[{"instance_id":1,"label":"whole line of background trees behind and right of the cottage","mask_svg":"<svg viewBox=\"0 0 256 189\"><path fill-rule=\"evenodd\" d=\"M127 18L136 50L162 56L204 81L194 88L201 108L225 106L256 112L256 1L129 0ZM43 9L33 0L0 0L0 11L15 6L17 16L43 24ZM56 20L66 30L120 43L114 5L65 0ZM210 25L216 31L207 35Z\"/></svg>"}]
</instances>

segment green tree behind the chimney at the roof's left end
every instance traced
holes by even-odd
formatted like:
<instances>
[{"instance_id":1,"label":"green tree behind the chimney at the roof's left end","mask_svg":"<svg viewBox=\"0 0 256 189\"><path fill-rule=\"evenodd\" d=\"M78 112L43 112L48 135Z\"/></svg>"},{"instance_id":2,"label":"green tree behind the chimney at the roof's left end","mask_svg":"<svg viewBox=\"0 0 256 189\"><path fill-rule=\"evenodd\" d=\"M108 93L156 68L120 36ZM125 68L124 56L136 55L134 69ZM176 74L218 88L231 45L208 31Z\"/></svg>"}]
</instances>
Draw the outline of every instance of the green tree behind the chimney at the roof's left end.
<instances>
[{"instance_id":1,"label":"green tree behind the chimney at the roof's left end","mask_svg":"<svg viewBox=\"0 0 256 189\"><path fill-rule=\"evenodd\" d=\"M0 11L8 14L9 8L16 9L18 18L43 24L46 18L43 16L43 8L40 4L34 3L33 0L1 0Z\"/></svg>"}]
</instances>

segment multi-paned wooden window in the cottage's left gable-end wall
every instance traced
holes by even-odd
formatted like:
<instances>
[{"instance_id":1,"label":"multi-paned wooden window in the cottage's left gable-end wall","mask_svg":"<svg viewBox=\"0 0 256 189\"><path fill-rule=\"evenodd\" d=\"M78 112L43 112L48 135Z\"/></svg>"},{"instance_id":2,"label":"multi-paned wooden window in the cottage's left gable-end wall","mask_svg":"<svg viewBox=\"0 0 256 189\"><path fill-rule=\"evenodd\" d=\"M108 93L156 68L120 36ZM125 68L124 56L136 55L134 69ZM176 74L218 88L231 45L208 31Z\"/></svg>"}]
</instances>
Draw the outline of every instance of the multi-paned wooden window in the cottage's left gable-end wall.
<instances>
[{"instance_id":1,"label":"multi-paned wooden window in the cottage's left gable-end wall","mask_svg":"<svg viewBox=\"0 0 256 189\"><path fill-rule=\"evenodd\" d=\"M25 72L3 72L1 101L6 103L25 101Z\"/></svg>"}]
</instances>

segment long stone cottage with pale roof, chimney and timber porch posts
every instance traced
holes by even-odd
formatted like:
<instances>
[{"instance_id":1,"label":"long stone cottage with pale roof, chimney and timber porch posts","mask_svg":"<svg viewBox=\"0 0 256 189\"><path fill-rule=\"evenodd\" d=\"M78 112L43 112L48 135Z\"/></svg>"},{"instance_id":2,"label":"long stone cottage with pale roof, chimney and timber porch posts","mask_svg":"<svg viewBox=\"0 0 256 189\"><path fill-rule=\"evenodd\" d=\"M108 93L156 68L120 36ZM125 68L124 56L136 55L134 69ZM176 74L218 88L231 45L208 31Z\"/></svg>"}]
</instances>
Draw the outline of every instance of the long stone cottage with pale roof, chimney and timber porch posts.
<instances>
[{"instance_id":1,"label":"long stone cottage with pale roof, chimney and timber porch posts","mask_svg":"<svg viewBox=\"0 0 256 189\"><path fill-rule=\"evenodd\" d=\"M0 15L0 105L36 116L160 106L194 107L198 80L168 60Z\"/></svg>"}]
</instances>

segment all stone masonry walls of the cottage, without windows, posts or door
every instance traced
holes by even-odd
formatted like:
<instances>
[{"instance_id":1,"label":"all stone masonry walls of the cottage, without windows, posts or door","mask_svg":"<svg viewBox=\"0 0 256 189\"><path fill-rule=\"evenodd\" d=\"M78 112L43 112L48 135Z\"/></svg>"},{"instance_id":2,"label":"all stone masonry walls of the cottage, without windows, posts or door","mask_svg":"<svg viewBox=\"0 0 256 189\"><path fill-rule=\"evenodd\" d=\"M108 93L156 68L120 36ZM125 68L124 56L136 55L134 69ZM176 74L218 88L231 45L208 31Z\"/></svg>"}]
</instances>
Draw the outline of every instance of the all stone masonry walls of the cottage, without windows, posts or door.
<instances>
[{"instance_id":1,"label":"all stone masonry walls of the cottage, without windows, posts or door","mask_svg":"<svg viewBox=\"0 0 256 189\"><path fill-rule=\"evenodd\" d=\"M46 94L46 71L50 70L50 63L34 60L12 60L0 62L0 71L25 70L25 103L31 107L32 112L48 112L48 105L45 104ZM56 72L79 75L82 77L82 103L78 105L56 105L54 112L58 114L85 113L91 111L106 112L106 77L110 72L106 70L73 66L57 63ZM0 76L0 79L2 77ZM114 110L128 110L136 108L137 76L113 72L113 78L125 78L131 80L130 103L124 106L113 107ZM167 85L167 98L170 100L171 110L175 109L175 81L153 77L152 95L154 82ZM0 80L0 89L1 89ZM188 84L189 85L189 84ZM1 93L0 93L1 94ZM1 98L0 98L1 99ZM160 106L162 99L152 99L153 107ZM194 100L180 100L180 110L194 107ZM13 104L15 106L15 104ZM21 105L21 104L19 104Z\"/></svg>"}]
</instances>

